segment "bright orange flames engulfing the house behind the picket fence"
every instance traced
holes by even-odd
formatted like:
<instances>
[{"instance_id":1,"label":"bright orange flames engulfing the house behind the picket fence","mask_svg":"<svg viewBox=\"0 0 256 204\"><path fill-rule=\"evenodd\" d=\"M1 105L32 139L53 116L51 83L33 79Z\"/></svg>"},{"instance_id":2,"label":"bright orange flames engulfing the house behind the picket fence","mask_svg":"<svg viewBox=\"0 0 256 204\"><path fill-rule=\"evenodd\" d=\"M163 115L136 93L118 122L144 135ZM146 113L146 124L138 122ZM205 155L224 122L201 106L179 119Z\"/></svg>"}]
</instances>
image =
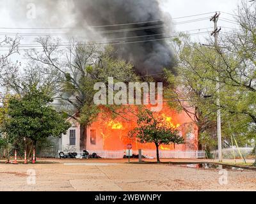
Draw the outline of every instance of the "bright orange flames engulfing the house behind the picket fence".
<instances>
[{"instance_id":1,"label":"bright orange flames engulfing the house behind the picket fence","mask_svg":"<svg viewBox=\"0 0 256 204\"><path fill-rule=\"evenodd\" d=\"M108 110L107 110L108 111ZM127 110L123 110L128 119L127 121L123 119L122 115L116 116L115 119L111 118L111 112L100 113L99 117L90 126L90 129L95 129L96 133L99 134L97 139L97 144L92 145L88 142L88 149L99 149L99 150L120 150L125 149L128 143L132 143L132 148L138 149L156 149L154 143L141 143L138 138L131 138L129 136L129 131L138 127L136 120L138 120L137 115L140 110L137 106L127 106ZM169 129L178 129L181 136L186 136L190 133L191 124L190 117L185 112L177 112L172 110L167 103L163 104L163 110L161 112L154 113L154 117L161 121L159 127L166 127ZM194 126L194 124L193 124ZM189 140L189 147L186 144L177 145L160 145L159 150L186 150L197 148L197 132L195 131L195 138Z\"/></svg>"}]
</instances>

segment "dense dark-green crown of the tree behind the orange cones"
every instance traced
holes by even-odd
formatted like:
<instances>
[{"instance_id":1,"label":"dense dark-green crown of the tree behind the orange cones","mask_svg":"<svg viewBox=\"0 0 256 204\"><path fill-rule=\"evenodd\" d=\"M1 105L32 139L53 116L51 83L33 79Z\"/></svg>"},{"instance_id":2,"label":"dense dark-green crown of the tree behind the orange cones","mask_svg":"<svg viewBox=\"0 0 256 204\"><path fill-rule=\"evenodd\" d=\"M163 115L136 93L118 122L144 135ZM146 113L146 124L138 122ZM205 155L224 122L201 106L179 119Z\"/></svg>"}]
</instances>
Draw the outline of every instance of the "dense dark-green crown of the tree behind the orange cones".
<instances>
[{"instance_id":1,"label":"dense dark-green crown of the tree behind the orange cones","mask_svg":"<svg viewBox=\"0 0 256 204\"><path fill-rule=\"evenodd\" d=\"M70 124L65 121L67 115L49 106L52 98L44 89L38 89L35 84L23 90L26 90L26 94L22 98L13 96L9 100L8 119L2 127L2 131L8 135L8 142L21 142L26 138L36 148L38 140L66 133L70 128Z\"/></svg>"}]
</instances>

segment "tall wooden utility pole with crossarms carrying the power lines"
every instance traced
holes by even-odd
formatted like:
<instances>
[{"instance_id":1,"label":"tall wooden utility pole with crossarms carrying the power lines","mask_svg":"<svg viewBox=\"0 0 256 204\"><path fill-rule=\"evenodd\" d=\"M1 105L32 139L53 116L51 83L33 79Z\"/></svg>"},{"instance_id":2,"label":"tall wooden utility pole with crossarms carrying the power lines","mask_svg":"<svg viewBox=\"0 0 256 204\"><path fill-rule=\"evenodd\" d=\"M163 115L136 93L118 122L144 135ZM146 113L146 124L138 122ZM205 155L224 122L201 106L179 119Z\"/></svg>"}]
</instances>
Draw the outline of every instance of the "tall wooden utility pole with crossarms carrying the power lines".
<instances>
[{"instance_id":1,"label":"tall wooden utility pole with crossarms carrying the power lines","mask_svg":"<svg viewBox=\"0 0 256 204\"><path fill-rule=\"evenodd\" d=\"M218 47L218 34L221 31L221 28L218 28L218 19L220 17L220 13L215 13L213 17L211 17L212 22L214 22L214 31L212 31L211 36L214 35L214 45L216 47L216 50L219 51ZM219 73L217 73L216 77L216 90L217 90L217 100L216 104L218 106L217 110L217 137L218 137L218 157L219 157L219 162L222 162L222 147L221 147L221 111L220 111L220 78L219 78Z\"/></svg>"}]
</instances>

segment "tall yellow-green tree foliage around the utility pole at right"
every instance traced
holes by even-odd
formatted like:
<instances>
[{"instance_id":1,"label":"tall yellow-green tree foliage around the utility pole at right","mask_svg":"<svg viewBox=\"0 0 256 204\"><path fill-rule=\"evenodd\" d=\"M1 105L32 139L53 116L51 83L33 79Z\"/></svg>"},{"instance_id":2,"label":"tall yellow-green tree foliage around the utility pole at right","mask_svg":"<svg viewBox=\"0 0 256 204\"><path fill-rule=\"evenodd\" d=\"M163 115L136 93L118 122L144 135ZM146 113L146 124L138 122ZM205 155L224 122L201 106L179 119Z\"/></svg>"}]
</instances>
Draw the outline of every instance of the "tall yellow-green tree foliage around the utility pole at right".
<instances>
[{"instance_id":1,"label":"tall yellow-green tree foliage around the utility pole at right","mask_svg":"<svg viewBox=\"0 0 256 204\"><path fill-rule=\"evenodd\" d=\"M223 40L226 38L231 36L225 36ZM173 106L181 107L180 109L188 113L196 123L200 145L207 152L216 148L216 110L219 108L222 113L223 147L232 145L231 138L236 138L239 145L251 143L253 138L253 126L255 126L255 91L253 91L255 71L253 70L255 68L252 61L248 62L245 59L246 55L239 54L235 48L231 49L230 44L227 44L229 41L234 43L234 47L235 45L241 47L237 45L234 37L232 38L233 40L223 41L221 44L227 47L221 46L221 48L202 46L192 42L184 34L173 40L179 60L177 63L179 76L173 78L169 73L168 80L175 88L168 89L167 96L175 99ZM243 38L240 36L240 39ZM248 55L252 54L248 53ZM218 82L221 84L221 106L216 105L218 75L220 79Z\"/></svg>"}]
</instances>

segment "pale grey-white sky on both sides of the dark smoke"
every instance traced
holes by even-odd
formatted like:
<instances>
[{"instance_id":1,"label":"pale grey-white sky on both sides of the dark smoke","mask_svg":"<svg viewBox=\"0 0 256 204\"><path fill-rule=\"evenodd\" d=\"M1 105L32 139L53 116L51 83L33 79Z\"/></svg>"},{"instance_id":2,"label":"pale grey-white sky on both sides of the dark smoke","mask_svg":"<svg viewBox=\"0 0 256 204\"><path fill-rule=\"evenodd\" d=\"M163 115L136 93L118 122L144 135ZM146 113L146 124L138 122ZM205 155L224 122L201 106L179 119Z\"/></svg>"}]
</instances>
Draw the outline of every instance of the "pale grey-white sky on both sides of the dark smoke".
<instances>
[{"instance_id":1,"label":"pale grey-white sky on both sides of the dark smoke","mask_svg":"<svg viewBox=\"0 0 256 204\"><path fill-rule=\"evenodd\" d=\"M0 28L3 27L68 27L72 26L72 12L70 8L72 8L72 1L62 0L61 4L56 4L56 1L50 1L49 3L52 6L52 11L46 10L44 6L42 6L42 2L40 0L0 0ZM93 1L93 0L92 0ZM136 0L134 0L136 1ZM247 1L247 0L244 0ZM212 30L212 22L209 21L211 15L214 14L214 11L223 11L221 12L221 17L219 20L219 25L223 26L223 31L227 31L228 28L224 27L236 27L236 24L225 22L225 18L234 19L232 15L228 15L227 13L233 13L237 8L237 3L239 0L159 0L161 3L161 8L170 13L173 18L174 24L179 22L184 22L187 20L193 20L198 18L206 18L205 20L200 20L197 22L189 22L188 24L180 24L174 26L174 31L191 31L191 33L198 33L204 31ZM31 4L35 4L35 18L28 18L28 10L31 9ZM61 15L56 15L60 11ZM188 17L188 18L179 18L185 17L189 15L197 15L201 13L209 13L206 15L200 15L196 17ZM29 15L33 15L33 13L29 13ZM47 17L47 18L45 18ZM224 18L224 19L222 19ZM48 19L48 20L44 20ZM171 24L171 21L170 21ZM208 28L208 29L202 29ZM200 29L200 30L199 30ZM0 29L0 33L65 33L65 30L29 30L29 29ZM193 36L194 40L203 41L205 37L209 36L209 34L200 34ZM4 36L0 36L3 38ZM23 40L21 44L35 43L35 36L23 36ZM66 40L67 41L67 40ZM0 48L1 50L1 48ZM0 51L1 52L1 51Z\"/></svg>"}]
</instances>

